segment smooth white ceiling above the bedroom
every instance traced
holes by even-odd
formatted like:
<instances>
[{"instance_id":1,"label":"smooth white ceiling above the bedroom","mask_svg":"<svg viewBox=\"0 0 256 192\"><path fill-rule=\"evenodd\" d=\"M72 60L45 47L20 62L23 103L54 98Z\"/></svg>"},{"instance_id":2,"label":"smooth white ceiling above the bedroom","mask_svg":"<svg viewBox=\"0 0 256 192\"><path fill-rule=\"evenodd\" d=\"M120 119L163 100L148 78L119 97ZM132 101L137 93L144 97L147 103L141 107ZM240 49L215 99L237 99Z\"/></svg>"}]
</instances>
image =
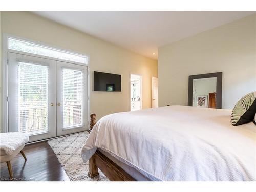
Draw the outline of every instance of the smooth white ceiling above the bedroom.
<instances>
[{"instance_id":1,"label":"smooth white ceiling above the bedroom","mask_svg":"<svg viewBox=\"0 0 256 192\"><path fill-rule=\"evenodd\" d=\"M35 14L157 59L160 46L232 22L245 11L36 11Z\"/></svg>"}]
</instances>

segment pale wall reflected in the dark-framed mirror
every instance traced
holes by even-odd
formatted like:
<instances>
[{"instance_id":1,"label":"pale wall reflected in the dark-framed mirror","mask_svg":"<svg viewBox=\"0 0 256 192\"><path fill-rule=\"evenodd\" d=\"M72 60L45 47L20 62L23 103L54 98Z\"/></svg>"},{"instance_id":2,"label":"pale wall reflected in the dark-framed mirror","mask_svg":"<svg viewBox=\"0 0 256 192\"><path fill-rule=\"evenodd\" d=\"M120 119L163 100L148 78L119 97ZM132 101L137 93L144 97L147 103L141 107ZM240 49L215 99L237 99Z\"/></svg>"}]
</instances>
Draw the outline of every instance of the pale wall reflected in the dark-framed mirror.
<instances>
[{"instance_id":1,"label":"pale wall reflected in the dark-framed mirror","mask_svg":"<svg viewBox=\"0 0 256 192\"><path fill-rule=\"evenodd\" d=\"M193 80L193 92L194 92L194 103L193 106L197 106L197 96L207 95L207 107L209 103L209 93L216 92L217 78L202 78Z\"/></svg>"}]
</instances>

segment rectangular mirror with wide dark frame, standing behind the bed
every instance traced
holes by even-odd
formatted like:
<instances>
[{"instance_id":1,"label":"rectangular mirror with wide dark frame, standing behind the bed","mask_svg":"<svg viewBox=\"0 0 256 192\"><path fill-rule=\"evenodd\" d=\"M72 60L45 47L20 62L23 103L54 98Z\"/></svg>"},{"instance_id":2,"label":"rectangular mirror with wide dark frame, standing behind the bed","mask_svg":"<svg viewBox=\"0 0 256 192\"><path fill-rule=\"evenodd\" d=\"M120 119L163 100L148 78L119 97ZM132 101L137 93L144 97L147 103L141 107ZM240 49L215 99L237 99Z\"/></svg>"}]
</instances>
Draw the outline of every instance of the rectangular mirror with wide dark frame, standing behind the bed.
<instances>
[{"instance_id":1,"label":"rectangular mirror with wide dark frame, standing behind the bed","mask_svg":"<svg viewBox=\"0 0 256 192\"><path fill-rule=\"evenodd\" d=\"M221 109L222 72L188 76L188 106Z\"/></svg>"}]
</instances>

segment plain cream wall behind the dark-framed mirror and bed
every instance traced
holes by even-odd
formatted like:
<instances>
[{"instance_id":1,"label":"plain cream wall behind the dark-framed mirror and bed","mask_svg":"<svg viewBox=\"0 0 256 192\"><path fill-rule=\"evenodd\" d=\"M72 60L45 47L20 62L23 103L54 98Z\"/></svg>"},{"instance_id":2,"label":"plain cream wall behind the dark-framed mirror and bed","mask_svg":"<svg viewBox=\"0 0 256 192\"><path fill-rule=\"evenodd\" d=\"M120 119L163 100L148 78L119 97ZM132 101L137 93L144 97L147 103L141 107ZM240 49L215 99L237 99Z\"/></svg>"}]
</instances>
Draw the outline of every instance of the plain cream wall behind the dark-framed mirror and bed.
<instances>
[{"instance_id":1,"label":"plain cream wall behind the dark-framed mirror and bed","mask_svg":"<svg viewBox=\"0 0 256 192\"><path fill-rule=\"evenodd\" d=\"M256 14L158 49L159 105L187 105L188 75L223 72L222 108L256 91Z\"/></svg>"}]
</instances>

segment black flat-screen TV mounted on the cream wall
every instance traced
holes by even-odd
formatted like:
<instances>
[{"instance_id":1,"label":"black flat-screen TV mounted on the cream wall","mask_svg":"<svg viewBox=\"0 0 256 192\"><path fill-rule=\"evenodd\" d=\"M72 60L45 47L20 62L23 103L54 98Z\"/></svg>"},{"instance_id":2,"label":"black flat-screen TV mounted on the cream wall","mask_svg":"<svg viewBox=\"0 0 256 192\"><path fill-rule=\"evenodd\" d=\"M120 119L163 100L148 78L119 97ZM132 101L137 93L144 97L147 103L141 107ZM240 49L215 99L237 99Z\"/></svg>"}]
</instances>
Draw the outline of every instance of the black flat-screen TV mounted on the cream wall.
<instances>
[{"instance_id":1,"label":"black flat-screen TV mounted on the cream wall","mask_svg":"<svg viewBox=\"0 0 256 192\"><path fill-rule=\"evenodd\" d=\"M94 91L121 91L121 75L94 71Z\"/></svg>"}]
</instances>

